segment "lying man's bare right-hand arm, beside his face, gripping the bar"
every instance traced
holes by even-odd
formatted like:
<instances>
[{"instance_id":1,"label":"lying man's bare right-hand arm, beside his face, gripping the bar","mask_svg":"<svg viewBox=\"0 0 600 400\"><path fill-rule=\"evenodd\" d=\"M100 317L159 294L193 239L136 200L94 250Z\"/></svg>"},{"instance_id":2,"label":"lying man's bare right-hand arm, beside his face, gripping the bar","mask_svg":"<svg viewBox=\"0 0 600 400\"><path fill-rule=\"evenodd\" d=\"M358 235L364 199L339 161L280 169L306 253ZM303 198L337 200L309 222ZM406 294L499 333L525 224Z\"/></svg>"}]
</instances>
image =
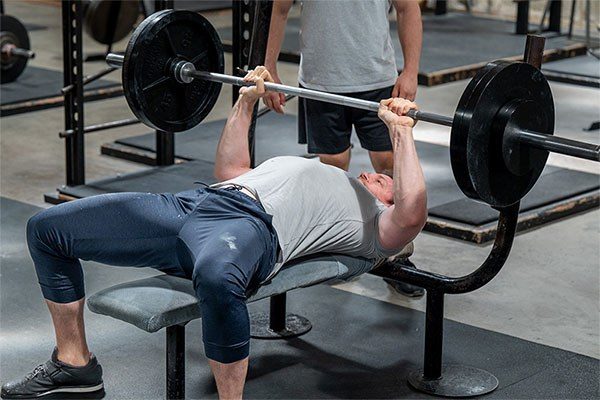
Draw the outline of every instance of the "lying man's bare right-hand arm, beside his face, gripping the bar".
<instances>
[{"instance_id":1,"label":"lying man's bare right-hand arm, beside his face, gripping the bar","mask_svg":"<svg viewBox=\"0 0 600 400\"><path fill-rule=\"evenodd\" d=\"M379 111L388 126L394 151L394 205L379 219L379 242L386 249L406 246L427 220L425 178L412 135L414 121L401 116L411 108L416 108L414 103L390 99L382 101Z\"/></svg>"}]
</instances>

